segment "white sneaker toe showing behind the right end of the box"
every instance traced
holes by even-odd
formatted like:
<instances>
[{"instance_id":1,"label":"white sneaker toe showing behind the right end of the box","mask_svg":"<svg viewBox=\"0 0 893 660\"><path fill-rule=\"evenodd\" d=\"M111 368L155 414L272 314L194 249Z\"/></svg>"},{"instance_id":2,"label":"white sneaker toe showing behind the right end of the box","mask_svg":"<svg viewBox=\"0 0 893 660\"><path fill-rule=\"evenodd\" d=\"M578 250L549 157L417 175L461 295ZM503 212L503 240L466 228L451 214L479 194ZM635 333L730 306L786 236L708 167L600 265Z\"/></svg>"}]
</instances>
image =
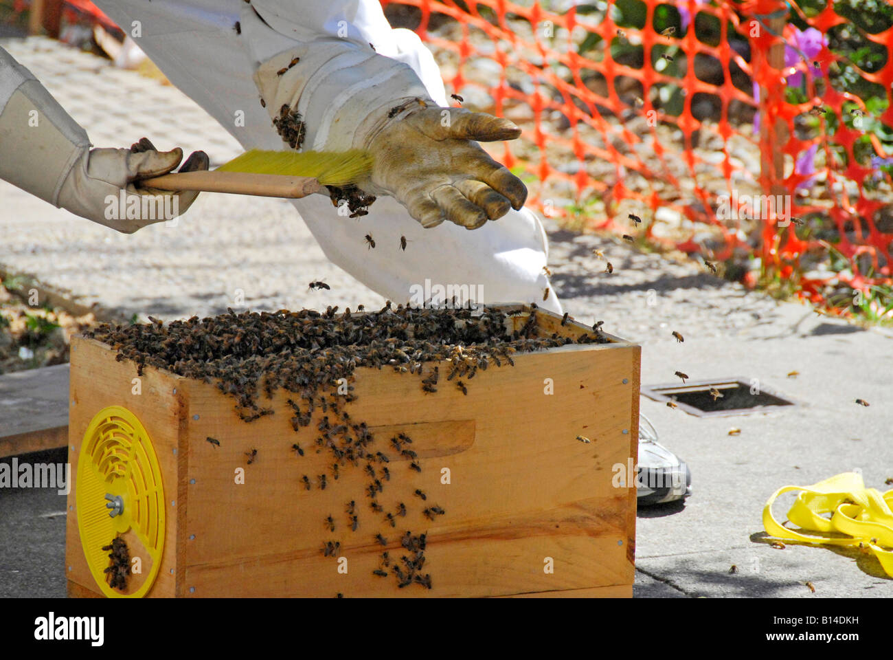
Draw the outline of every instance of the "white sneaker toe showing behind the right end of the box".
<instances>
[{"instance_id":1,"label":"white sneaker toe showing behind the right end of the box","mask_svg":"<svg viewBox=\"0 0 893 660\"><path fill-rule=\"evenodd\" d=\"M657 431L638 416L638 505L675 502L691 495L691 471L685 461L657 442Z\"/></svg>"}]
</instances>

